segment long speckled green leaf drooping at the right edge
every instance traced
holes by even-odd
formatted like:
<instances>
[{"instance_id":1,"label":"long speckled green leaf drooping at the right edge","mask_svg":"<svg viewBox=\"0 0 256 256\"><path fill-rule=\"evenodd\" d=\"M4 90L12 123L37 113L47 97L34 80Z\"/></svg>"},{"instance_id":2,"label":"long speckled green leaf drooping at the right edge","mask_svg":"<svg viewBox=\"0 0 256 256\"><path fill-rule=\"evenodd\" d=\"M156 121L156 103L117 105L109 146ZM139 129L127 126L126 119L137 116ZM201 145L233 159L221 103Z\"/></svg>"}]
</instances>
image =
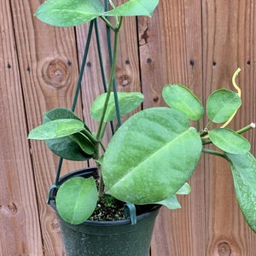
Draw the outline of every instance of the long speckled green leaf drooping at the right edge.
<instances>
[{"instance_id":1,"label":"long speckled green leaf drooping at the right edge","mask_svg":"<svg viewBox=\"0 0 256 256\"><path fill-rule=\"evenodd\" d=\"M256 232L256 160L253 154L226 154L234 178L236 198L247 224Z\"/></svg>"}]
</instances>

